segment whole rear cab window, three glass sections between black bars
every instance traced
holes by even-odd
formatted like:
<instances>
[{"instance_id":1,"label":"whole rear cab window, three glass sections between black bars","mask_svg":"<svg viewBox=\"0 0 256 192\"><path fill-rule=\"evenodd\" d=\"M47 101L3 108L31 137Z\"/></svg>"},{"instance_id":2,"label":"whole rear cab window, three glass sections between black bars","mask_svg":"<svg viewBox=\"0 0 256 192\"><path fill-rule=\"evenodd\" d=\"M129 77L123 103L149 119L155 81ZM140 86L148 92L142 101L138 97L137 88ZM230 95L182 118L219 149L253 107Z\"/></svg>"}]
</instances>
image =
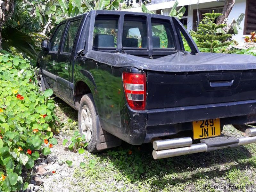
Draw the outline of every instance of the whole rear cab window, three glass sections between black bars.
<instances>
[{"instance_id":1,"label":"whole rear cab window, three glass sections between black bars","mask_svg":"<svg viewBox=\"0 0 256 192\"><path fill-rule=\"evenodd\" d=\"M95 19L93 47L116 50L119 15L98 15ZM169 20L151 19L148 32L146 16L125 15L120 48L124 50L148 50L149 34L152 33L153 50L174 49L175 43Z\"/></svg>"}]
</instances>

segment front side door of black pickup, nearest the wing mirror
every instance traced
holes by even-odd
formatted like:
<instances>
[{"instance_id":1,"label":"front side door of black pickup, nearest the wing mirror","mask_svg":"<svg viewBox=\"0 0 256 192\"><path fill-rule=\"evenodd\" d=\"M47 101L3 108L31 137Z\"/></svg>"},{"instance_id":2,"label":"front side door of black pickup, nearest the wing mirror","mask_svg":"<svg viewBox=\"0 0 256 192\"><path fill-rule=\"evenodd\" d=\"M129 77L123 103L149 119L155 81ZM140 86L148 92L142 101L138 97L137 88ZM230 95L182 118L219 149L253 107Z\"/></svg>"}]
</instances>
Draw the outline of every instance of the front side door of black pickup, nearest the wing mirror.
<instances>
[{"instance_id":1,"label":"front side door of black pickup, nearest the wing mirror","mask_svg":"<svg viewBox=\"0 0 256 192\"><path fill-rule=\"evenodd\" d=\"M48 44L49 52L44 57L43 75L45 77L45 86L53 89L56 94L58 94L56 82L56 61L65 25L66 23L62 23L55 30L54 35Z\"/></svg>"}]
</instances>

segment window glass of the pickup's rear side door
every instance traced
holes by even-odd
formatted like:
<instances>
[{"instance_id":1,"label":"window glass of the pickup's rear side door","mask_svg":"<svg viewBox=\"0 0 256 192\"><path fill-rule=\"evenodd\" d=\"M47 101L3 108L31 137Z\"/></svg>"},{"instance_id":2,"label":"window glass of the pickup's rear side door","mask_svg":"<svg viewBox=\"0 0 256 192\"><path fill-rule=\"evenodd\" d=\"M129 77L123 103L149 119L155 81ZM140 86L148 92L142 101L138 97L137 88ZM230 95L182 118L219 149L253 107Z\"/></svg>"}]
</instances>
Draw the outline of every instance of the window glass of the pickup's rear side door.
<instances>
[{"instance_id":1,"label":"window glass of the pickup's rear side door","mask_svg":"<svg viewBox=\"0 0 256 192\"><path fill-rule=\"evenodd\" d=\"M71 53L73 45L76 39L77 29L79 27L80 20L71 21L68 27L68 32L65 36L63 52Z\"/></svg>"}]
</instances>

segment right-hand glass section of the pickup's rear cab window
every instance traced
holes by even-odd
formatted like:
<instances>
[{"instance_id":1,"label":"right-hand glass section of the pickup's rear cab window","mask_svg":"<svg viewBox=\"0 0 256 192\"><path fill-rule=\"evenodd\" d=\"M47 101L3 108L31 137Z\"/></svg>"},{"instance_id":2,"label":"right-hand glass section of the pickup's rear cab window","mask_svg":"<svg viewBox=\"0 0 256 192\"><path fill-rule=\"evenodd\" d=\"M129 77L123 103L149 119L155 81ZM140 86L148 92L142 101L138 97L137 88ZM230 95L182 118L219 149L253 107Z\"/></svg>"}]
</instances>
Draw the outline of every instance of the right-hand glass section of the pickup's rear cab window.
<instances>
[{"instance_id":1,"label":"right-hand glass section of the pickup's rear cab window","mask_svg":"<svg viewBox=\"0 0 256 192\"><path fill-rule=\"evenodd\" d=\"M153 49L175 48L169 22L152 19Z\"/></svg>"}]
</instances>

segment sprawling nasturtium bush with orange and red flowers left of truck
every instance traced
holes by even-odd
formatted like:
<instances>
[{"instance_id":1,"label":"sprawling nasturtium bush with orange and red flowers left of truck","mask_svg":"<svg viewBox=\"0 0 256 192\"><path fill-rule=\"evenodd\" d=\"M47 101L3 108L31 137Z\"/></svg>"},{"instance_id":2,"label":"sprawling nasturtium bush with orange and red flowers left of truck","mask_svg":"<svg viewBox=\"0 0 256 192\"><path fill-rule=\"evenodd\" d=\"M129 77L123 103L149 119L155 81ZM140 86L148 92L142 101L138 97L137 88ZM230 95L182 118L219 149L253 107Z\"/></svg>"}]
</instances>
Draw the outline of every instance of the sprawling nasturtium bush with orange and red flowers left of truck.
<instances>
[{"instance_id":1,"label":"sprawling nasturtium bush with orange and red flowers left of truck","mask_svg":"<svg viewBox=\"0 0 256 192\"><path fill-rule=\"evenodd\" d=\"M57 119L54 101L48 99L52 93L39 93L29 60L0 53L0 191L27 188L21 171L34 166L43 145L48 155L48 145L56 144L50 139Z\"/></svg>"}]
</instances>

